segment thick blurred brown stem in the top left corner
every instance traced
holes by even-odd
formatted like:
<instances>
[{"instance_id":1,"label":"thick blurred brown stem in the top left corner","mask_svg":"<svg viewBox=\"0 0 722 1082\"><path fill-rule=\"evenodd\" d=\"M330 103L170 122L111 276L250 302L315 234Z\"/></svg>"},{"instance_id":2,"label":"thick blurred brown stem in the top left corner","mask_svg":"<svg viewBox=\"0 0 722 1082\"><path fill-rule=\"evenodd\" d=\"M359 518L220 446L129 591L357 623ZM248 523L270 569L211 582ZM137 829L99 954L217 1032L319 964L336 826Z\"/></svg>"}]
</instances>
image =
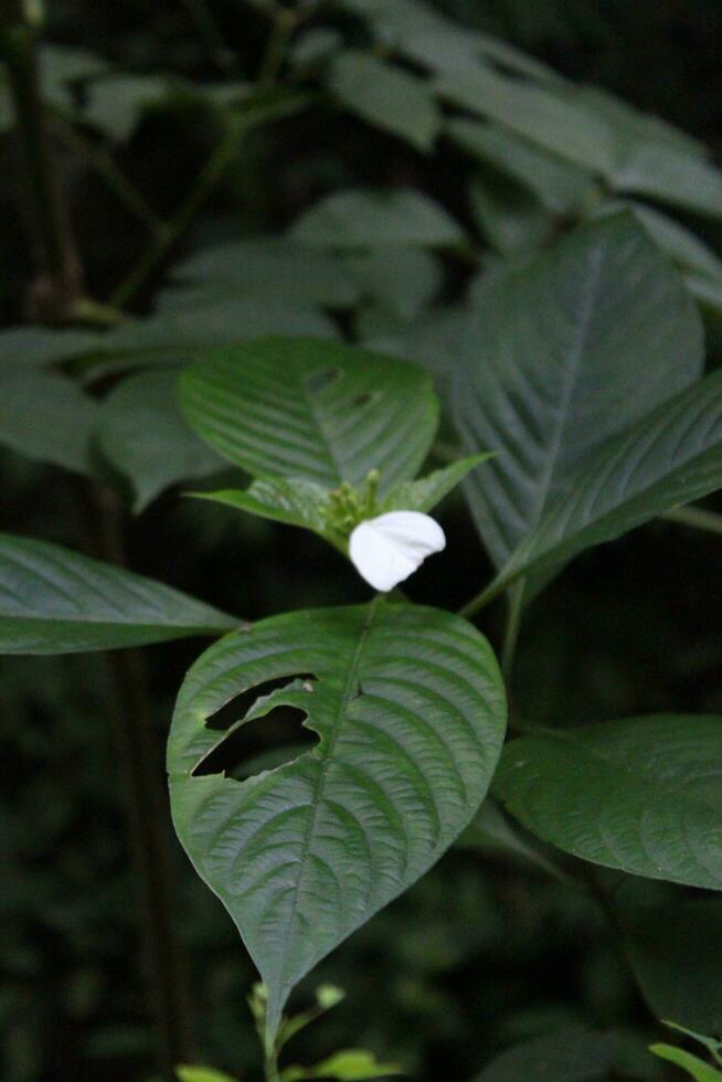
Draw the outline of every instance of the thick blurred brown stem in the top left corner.
<instances>
[{"instance_id":1,"label":"thick blurred brown stem in the top left corner","mask_svg":"<svg viewBox=\"0 0 722 1082\"><path fill-rule=\"evenodd\" d=\"M62 189L50 150L40 93L36 39L40 23L23 0L2 0L0 45L21 149L23 183L38 277L25 298L31 319L71 318L83 296L83 273L71 234Z\"/></svg>"}]
</instances>

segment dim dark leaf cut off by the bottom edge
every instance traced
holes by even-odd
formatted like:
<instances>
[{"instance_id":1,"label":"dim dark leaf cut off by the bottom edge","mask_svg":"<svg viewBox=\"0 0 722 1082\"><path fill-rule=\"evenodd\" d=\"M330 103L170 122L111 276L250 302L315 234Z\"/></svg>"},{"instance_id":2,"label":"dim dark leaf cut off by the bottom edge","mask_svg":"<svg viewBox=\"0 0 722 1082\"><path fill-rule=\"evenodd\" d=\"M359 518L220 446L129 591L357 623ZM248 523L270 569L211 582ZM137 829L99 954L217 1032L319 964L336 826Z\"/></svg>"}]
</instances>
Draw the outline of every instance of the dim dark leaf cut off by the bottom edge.
<instances>
[{"instance_id":1,"label":"dim dark leaf cut off by the bottom edge","mask_svg":"<svg viewBox=\"0 0 722 1082\"><path fill-rule=\"evenodd\" d=\"M610 1035L571 1026L501 1052L475 1082L601 1082L615 1051Z\"/></svg>"}]
</instances>

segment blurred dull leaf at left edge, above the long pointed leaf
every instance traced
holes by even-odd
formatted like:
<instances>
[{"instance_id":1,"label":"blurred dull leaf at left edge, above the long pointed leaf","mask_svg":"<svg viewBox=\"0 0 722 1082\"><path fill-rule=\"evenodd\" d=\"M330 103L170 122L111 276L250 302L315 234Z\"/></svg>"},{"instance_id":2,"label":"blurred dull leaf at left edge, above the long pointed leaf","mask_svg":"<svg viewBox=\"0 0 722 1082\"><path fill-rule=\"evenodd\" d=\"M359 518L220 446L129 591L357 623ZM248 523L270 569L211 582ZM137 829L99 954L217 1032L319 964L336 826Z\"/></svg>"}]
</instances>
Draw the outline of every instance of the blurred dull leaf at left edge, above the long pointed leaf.
<instances>
[{"instance_id":1,"label":"blurred dull leaf at left edge, above the long pointed leaf","mask_svg":"<svg viewBox=\"0 0 722 1082\"><path fill-rule=\"evenodd\" d=\"M72 380L34 367L0 369L0 443L26 458L92 474L97 415Z\"/></svg>"}]
</instances>

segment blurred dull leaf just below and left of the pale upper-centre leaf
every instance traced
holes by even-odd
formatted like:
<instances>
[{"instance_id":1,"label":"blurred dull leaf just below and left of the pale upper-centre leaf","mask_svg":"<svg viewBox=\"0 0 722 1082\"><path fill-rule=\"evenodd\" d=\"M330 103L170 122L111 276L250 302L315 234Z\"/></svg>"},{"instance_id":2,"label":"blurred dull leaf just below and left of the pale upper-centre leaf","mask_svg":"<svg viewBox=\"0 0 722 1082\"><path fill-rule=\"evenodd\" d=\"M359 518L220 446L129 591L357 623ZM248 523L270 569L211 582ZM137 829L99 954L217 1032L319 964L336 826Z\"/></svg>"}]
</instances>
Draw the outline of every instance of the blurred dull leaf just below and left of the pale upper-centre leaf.
<instances>
[{"instance_id":1,"label":"blurred dull leaf just below and left of the pale upper-centre leaf","mask_svg":"<svg viewBox=\"0 0 722 1082\"><path fill-rule=\"evenodd\" d=\"M197 296L199 290L205 290L216 297L253 296L301 307L349 308L359 296L357 285L338 258L283 236L258 236L203 248L178 264L173 277L194 283ZM168 290L166 303L178 304L188 293L188 288Z\"/></svg>"}]
</instances>

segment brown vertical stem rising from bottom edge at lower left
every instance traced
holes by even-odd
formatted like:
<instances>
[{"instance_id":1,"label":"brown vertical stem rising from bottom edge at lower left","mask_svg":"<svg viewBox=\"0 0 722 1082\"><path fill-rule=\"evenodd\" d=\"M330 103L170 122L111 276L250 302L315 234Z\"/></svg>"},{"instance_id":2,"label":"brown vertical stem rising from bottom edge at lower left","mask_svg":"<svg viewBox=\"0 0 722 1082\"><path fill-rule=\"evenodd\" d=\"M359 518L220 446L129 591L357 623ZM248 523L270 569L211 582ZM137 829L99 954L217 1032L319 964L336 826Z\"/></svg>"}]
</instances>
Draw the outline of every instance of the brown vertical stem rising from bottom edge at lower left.
<instances>
[{"instance_id":1,"label":"brown vertical stem rising from bottom edge at lower left","mask_svg":"<svg viewBox=\"0 0 722 1082\"><path fill-rule=\"evenodd\" d=\"M123 511L106 488L93 486L88 515L96 528L92 547L115 564L127 564ZM91 534L91 523L86 532ZM176 1064L192 1062L192 1015L184 952L177 931L168 798L149 707L145 659L138 650L105 655L112 687L116 743L142 921L144 969L158 1037L163 1082L174 1082Z\"/></svg>"}]
</instances>

